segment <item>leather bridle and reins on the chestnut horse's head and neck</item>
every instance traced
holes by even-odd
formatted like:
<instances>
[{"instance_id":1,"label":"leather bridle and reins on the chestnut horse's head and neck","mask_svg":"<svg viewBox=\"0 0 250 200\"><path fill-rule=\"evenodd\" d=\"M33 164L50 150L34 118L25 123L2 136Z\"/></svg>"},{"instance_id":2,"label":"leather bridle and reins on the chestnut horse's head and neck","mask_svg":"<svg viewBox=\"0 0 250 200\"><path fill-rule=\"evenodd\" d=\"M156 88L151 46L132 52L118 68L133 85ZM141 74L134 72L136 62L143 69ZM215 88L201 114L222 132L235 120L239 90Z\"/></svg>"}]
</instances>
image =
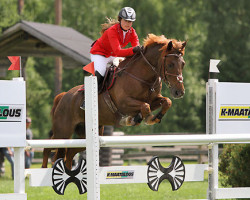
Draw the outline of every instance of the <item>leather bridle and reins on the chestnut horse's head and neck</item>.
<instances>
[{"instance_id":1,"label":"leather bridle and reins on the chestnut horse's head and neck","mask_svg":"<svg viewBox=\"0 0 250 200\"><path fill-rule=\"evenodd\" d=\"M151 67L151 69L157 74L157 79L156 81L160 78L162 79L161 75L159 74L159 72L156 70L156 68L147 60L147 58L144 56L144 54L142 53L142 51L140 51L141 53L141 56L143 57L143 59L145 60L145 62ZM170 88L171 85L170 85L170 82L168 81L168 78L167 76L175 76L177 81L179 83L183 83L183 76L182 74L172 74L172 73L168 73L167 70L165 70L165 62L166 62L166 58L167 57L170 57L170 56L175 56L177 57L178 59L182 58L182 54L179 53L172 53L172 54L167 54L164 56L163 60L162 60L162 64L161 64L161 68L160 68L160 72L162 71L162 69L164 70L164 77L163 77L163 80L166 82L167 86ZM156 82L155 81L155 82ZM154 84L153 84L154 85Z\"/></svg>"}]
</instances>

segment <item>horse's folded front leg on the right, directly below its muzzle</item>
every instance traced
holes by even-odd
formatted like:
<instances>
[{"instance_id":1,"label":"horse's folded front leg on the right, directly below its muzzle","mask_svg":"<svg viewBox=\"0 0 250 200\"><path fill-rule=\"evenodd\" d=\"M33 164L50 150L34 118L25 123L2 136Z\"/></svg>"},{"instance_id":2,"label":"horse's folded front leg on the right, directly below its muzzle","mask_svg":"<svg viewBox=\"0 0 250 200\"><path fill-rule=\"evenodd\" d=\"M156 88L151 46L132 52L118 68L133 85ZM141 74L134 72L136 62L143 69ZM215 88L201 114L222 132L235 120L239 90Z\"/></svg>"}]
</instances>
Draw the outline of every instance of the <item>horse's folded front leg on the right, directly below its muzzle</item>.
<instances>
[{"instance_id":1,"label":"horse's folded front leg on the right, directly below its muzzle","mask_svg":"<svg viewBox=\"0 0 250 200\"><path fill-rule=\"evenodd\" d=\"M172 101L167 98L159 95L152 103L151 110L156 110L161 107L161 110L156 115L149 115L145 119L145 123L148 125L153 125L160 123L163 116L166 114L168 109L172 106Z\"/></svg>"}]
</instances>

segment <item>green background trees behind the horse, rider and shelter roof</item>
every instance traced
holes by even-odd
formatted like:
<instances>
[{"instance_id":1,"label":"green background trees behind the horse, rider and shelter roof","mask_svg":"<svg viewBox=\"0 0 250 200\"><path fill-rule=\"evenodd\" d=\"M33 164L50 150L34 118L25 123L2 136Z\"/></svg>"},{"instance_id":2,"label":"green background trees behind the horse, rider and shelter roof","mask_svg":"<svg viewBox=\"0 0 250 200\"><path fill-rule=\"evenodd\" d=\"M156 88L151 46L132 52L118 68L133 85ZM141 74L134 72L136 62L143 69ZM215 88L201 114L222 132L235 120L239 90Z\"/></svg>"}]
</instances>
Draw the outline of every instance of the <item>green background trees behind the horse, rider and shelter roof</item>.
<instances>
[{"instance_id":1,"label":"green background trees behind the horse, rider and shelter roof","mask_svg":"<svg viewBox=\"0 0 250 200\"><path fill-rule=\"evenodd\" d=\"M209 59L222 60L220 81L248 82L250 78L248 0L64 0L62 25L72 27L95 40L100 36L100 24L105 22L105 17L116 18L124 6L133 7L137 13L133 27L141 44L148 33L188 40L188 44L184 56L184 98L173 100L172 108L160 124L122 130L129 133L205 132L205 82ZM25 0L22 16L18 16L16 0L1 0L0 17L0 33L4 27L9 27L20 19L54 24L54 1ZM50 96L46 97L48 105L40 105L40 108L46 110L51 107L54 97L54 62L52 58L34 60L27 70L29 67L33 68L34 73L46 83L46 90L50 90ZM81 69L64 69L63 90L82 84L82 80ZM36 88L33 91L34 89ZM165 86L163 95L168 96ZM49 110L47 118L49 119ZM40 129L40 125L35 124L34 121L33 125Z\"/></svg>"}]
</instances>

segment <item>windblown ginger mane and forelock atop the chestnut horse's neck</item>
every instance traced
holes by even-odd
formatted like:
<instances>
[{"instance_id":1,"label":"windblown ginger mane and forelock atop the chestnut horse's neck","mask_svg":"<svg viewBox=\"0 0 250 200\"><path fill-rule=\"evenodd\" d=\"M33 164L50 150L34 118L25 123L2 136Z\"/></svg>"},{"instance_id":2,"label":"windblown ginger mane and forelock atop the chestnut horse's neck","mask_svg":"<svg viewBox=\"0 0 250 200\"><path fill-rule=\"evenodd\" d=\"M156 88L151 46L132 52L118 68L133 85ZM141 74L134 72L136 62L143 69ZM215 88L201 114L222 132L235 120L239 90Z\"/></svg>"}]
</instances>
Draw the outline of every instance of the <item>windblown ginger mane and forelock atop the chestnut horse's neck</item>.
<instances>
[{"instance_id":1,"label":"windblown ginger mane and forelock atop the chestnut horse's neck","mask_svg":"<svg viewBox=\"0 0 250 200\"><path fill-rule=\"evenodd\" d=\"M173 52L179 52L184 55L185 48L183 48L183 42L176 39L167 39L164 35L157 36L154 34L148 34L147 38L144 39L144 47L150 46L151 44L162 44L163 47L159 50L165 52L168 47L168 43L172 41L173 43Z\"/></svg>"}]
</instances>

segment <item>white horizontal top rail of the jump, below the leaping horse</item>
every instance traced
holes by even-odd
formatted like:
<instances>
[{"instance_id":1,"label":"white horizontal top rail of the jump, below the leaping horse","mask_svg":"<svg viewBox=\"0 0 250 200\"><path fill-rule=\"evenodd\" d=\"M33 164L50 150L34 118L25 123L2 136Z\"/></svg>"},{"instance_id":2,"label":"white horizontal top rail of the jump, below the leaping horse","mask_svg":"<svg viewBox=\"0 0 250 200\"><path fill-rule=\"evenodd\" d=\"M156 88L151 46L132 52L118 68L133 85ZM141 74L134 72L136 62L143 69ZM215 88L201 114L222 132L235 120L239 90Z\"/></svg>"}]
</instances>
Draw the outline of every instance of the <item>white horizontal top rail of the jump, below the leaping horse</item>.
<instances>
[{"instance_id":1,"label":"white horizontal top rail of the jump, below the leaping horse","mask_svg":"<svg viewBox=\"0 0 250 200\"><path fill-rule=\"evenodd\" d=\"M72 140L27 140L27 147L32 148L80 148L86 147L85 139ZM141 135L141 136L99 136L100 147L135 147L135 146L168 146L197 145L210 143L246 143L250 142L250 134L221 135Z\"/></svg>"}]
</instances>

